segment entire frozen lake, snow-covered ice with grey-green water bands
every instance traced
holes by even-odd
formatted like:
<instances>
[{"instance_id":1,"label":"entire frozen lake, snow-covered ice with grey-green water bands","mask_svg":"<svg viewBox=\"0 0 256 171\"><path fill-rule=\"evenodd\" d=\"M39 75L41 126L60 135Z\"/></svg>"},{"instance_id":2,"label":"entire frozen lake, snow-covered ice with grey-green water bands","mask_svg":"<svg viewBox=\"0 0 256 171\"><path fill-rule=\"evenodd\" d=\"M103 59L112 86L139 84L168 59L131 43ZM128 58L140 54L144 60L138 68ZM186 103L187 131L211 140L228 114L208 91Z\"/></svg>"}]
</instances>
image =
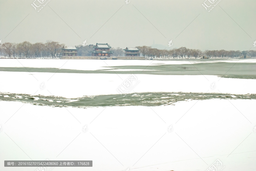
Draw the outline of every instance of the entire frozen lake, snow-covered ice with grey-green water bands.
<instances>
[{"instance_id":1,"label":"entire frozen lake, snow-covered ice with grey-green water bands","mask_svg":"<svg viewBox=\"0 0 256 171\"><path fill-rule=\"evenodd\" d=\"M93 160L92 171L205 171L218 159L218 170L255 171L255 62L1 59L0 159Z\"/></svg>"}]
</instances>

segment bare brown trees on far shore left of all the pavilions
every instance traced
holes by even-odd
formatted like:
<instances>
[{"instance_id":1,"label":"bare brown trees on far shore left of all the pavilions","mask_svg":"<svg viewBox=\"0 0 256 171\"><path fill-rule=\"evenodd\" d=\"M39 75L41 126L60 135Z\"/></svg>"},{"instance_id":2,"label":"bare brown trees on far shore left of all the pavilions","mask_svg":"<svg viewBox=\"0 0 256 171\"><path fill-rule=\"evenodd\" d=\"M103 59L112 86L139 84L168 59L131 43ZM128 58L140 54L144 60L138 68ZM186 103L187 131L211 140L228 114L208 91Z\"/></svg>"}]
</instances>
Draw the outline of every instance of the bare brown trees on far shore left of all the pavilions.
<instances>
[{"instance_id":1,"label":"bare brown trees on far shore left of all the pavilions","mask_svg":"<svg viewBox=\"0 0 256 171\"><path fill-rule=\"evenodd\" d=\"M24 41L22 43L3 43L0 47L0 53L4 53L9 58L11 57L52 57L61 55L64 44L56 41L47 41L46 43L30 43Z\"/></svg>"}]
</instances>

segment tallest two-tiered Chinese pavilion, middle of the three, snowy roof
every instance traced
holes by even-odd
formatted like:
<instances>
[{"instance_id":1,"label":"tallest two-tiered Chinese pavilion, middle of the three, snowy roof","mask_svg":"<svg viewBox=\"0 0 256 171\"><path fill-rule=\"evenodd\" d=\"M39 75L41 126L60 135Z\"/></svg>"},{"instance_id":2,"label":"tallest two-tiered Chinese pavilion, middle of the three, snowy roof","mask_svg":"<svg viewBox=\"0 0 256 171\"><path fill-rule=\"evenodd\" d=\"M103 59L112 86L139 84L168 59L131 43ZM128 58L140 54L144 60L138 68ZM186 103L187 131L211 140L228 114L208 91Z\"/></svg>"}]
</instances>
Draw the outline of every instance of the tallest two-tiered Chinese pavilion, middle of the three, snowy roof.
<instances>
[{"instance_id":1,"label":"tallest two-tiered Chinese pavilion, middle of the three, snowy roof","mask_svg":"<svg viewBox=\"0 0 256 171\"><path fill-rule=\"evenodd\" d=\"M106 44L98 44L94 46L94 51L92 51L92 56L103 56L103 57L111 57L112 51L110 51L111 46Z\"/></svg>"}]
</instances>

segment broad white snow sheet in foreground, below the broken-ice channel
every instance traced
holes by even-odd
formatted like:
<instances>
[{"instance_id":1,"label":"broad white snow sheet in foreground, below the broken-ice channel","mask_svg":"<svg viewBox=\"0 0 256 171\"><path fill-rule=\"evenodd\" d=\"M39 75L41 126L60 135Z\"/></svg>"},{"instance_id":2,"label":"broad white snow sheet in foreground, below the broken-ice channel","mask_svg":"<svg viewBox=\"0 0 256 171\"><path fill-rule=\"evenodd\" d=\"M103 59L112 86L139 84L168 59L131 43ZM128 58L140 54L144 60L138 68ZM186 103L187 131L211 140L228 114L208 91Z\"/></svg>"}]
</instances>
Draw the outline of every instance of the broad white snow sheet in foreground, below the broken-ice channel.
<instances>
[{"instance_id":1,"label":"broad white snow sheet in foreground, below the broken-ice channel","mask_svg":"<svg viewBox=\"0 0 256 171\"><path fill-rule=\"evenodd\" d=\"M151 109L65 109L31 104L20 108L20 102L0 101L3 122L20 108L0 132L0 159L93 160L93 167L86 170L109 171L207 170L219 159L227 171L254 171L255 100L213 99L194 105L195 102ZM87 132L82 131L85 125ZM168 132L170 125L172 132ZM0 168L4 168L3 162Z\"/></svg>"}]
</instances>

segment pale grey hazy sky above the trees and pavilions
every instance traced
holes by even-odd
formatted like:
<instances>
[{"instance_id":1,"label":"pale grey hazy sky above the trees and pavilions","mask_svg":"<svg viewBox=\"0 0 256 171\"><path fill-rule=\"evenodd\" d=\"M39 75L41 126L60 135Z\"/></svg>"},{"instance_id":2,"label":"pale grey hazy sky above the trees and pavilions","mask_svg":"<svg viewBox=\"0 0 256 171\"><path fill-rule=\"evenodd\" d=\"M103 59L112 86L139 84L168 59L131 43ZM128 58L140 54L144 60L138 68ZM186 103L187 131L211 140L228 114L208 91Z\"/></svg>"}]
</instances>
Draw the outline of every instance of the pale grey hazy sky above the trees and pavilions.
<instances>
[{"instance_id":1,"label":"pale grey hazy sky above the trees and pavilions","mask_svg":"<svg viewBox=\"0 0 256 171\"><path fill-rule=\"evenodd\" d=\"M210 12L205 0L50 0L37 12L44 3L37 10L31 4L38 1L0 0L2 43L87 39L124 49L172 40L171 48L256 50L255 0L221 0Z\"/></svg>"}]
</instances>

